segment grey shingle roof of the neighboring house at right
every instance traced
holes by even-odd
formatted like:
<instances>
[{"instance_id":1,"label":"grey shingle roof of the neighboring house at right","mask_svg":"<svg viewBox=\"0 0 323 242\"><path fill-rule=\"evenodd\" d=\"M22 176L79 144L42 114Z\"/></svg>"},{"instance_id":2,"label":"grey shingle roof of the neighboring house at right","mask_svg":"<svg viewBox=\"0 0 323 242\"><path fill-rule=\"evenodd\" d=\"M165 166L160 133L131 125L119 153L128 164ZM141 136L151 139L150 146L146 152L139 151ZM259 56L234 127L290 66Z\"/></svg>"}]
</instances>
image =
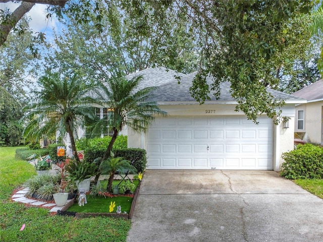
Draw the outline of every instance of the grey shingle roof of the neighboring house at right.
<instances>
[{"instance_id":1,"label":"grey shingle roof of the neighboring house at right","mask_svg":"<svg viewBox=\"0 0 323 242\"><path fill-rule=\"evenodd\" d=\"M295 97L304 98L307 101L323 99L323 79L312 83L292 94Z\"/></svg>"}]
</instances>

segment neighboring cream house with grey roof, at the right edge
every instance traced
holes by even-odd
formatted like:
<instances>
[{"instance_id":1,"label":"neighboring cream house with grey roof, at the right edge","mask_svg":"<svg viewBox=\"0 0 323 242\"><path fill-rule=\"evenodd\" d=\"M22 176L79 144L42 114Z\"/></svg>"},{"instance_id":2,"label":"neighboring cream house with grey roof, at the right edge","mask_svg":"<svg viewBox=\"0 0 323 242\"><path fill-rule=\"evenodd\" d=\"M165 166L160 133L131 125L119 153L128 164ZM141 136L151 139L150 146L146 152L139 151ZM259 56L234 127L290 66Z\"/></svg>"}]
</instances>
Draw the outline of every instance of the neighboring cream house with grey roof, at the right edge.
<instances>
[{"instance_id":1,"label":"neighboring cream house with grey roof, at the right edge","mask_svg":"<svg viewBox=\"0 0 323 242\"><path fill-rule=\"evenodd\" d=\"M323 145L323 79L292 94L307 100L295 107L295 136Z\"/></svg>"}]
</instances>

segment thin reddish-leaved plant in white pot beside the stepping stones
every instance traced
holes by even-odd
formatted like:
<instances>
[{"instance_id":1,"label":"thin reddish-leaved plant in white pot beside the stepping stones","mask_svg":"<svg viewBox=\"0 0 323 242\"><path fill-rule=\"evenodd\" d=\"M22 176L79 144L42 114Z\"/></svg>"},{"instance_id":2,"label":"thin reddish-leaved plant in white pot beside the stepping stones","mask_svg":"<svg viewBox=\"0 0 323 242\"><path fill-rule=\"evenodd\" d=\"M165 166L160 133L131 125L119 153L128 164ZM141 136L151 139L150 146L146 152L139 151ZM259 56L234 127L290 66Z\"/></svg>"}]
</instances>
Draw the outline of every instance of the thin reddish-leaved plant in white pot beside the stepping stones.
<instances>
[{"instance_id":1,"label":"thin reddish-leaved plant in white pot beside the stepping stones","mask_svg":"<svg viewBox=\"0 0 323 242\"><path fill-rule=\"evenodd\" d=\"M68 196L69 196L69 193L64 192L65 188L68 185L68 180L66 179L67 174L66 174L65 167L66 167L65 162L57 163L57 172L61 176L61 181L57 185L58 193L55 193L52 196L55 200L56 205L59 207L65 206Z\"/></svg>"}]
</instances>

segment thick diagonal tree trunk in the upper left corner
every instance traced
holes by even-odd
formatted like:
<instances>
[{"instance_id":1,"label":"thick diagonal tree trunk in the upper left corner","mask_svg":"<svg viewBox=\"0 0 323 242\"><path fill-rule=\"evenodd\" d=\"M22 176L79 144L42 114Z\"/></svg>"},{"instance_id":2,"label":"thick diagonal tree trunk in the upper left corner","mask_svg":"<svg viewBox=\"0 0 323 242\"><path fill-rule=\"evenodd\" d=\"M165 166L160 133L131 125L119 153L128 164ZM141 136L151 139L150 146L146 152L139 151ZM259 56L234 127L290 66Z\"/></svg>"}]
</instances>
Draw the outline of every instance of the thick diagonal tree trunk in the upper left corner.
<instances>
[{"instance_id":1,"label":"thick diagonal tree trunk in the upper left corner","mask_svg":"<svg viewBox=\"0 0 323 242\"><path fill-rule=\"evenodd\" d=\"M9 32L18 21L31 10L35 3L22 2L21 5L9 16L8 20L3 21L0 26L0 46L2 46L6 40Z\"/></svg>"}]
</instances>

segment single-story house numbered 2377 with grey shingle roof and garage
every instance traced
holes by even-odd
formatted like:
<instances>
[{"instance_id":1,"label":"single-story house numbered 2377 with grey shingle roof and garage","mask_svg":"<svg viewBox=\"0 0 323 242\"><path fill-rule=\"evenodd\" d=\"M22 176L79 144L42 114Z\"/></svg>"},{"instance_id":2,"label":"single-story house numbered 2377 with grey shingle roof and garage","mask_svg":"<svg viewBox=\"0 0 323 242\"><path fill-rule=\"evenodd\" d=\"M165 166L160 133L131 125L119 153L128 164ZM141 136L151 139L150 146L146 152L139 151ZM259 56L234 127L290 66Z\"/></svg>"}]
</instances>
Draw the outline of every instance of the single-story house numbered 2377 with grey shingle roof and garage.
<instances>
[{"instance_id":1,"label":"single-story house numbered 2377 with grey shingle roof and garage","mask_svg":"<svg viewBox=\"0 0 323 242\"><path fill-rule=\"evenodd\" d=\"M237 102L228 82L221 84L220 99L210 95L210 101L199 105L189 93L194 73L181 74L181 84L176 73L165 68L149 68L131 77L134 75L143 75L144 83L158 86L153 100L168 112L168 116L156 116L147 134L128 128L128 147L147 151L147 169L278 171L282 153L294 148L295 104L306 100L268 89L275 98L286 101L281 109L282 116L290 118L289 126L284 122L275 126L264 114L256 125L234 110Z\"/></svg>"}]
</instances>

